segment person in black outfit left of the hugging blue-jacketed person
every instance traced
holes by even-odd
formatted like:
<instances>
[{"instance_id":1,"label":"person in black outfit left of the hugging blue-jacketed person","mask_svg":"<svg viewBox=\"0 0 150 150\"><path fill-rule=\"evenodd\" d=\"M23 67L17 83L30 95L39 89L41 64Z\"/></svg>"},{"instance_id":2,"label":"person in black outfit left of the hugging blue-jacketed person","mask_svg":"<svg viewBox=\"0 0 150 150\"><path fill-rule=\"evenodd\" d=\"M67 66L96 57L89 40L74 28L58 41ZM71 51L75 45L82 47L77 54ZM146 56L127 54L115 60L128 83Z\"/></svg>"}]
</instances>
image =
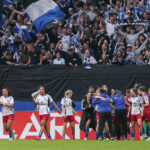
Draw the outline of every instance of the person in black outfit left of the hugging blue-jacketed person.
<instances>
[{"instance_id":1,"label":"person in black outfit left of the hugging blue-jacketed person","mask_svg":"<svg viewBox=\"0 0 150 150\"><path fill-rule=\"evenodd\" d=\"M87 93L86 97L81 102L83 114L80 122L80 129L85 132L85 140L88 138L89 128L93 128L93 130L96 128L96 118L91 98L92 94Z\"/></svg>"}]
</instances>

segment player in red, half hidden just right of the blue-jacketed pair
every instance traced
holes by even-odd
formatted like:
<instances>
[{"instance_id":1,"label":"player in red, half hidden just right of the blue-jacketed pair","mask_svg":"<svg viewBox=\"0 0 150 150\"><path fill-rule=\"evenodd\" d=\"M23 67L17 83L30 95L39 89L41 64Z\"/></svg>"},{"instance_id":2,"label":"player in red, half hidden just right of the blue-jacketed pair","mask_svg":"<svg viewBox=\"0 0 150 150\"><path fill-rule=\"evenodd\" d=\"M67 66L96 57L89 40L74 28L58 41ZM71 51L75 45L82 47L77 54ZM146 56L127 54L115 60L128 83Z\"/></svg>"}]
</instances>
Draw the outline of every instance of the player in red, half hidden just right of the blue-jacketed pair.
<instances>
[{"instance_id":1,"label":"player in red, half hidden just right of the blue-jacketed pair","mask_svg":"<svg viewBox=\"0 0 150 150\"><path fill-rule=\"evenodd\" d=\"M127 127L128 127L128 134L130 135L130 123L131 123L131 111L129 112L129 106L130 106L130 90L128 89L126 91L126 97L125 97L125 103L126 103L126 110L127 110ZM129 116L128 116L128 112L129 112Z\"/></svg>"}]
</instances>

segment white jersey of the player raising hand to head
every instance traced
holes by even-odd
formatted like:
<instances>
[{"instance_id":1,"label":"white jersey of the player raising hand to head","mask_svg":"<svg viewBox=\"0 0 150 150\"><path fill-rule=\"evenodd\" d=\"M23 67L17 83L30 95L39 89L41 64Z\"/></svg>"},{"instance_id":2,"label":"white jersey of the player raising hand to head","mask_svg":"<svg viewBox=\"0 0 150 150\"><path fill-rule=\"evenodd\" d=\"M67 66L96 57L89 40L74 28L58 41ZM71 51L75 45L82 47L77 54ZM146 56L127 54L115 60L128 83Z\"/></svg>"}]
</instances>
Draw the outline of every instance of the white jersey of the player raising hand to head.
<instances>
[{"instance_id":1,"label":"white jersey of the player raising hand to head","mask_svg":"<svg viewBox=\"0 0 150 150\"><path fill-rule=\"evenodd\" d=\"M49 102L53 102L53 99L50 95L46 94L42 96L39 94L35 102L37 103L37 110L39 111L39 115L47 115L50 112Z\"/></svg>"}]
</instances>

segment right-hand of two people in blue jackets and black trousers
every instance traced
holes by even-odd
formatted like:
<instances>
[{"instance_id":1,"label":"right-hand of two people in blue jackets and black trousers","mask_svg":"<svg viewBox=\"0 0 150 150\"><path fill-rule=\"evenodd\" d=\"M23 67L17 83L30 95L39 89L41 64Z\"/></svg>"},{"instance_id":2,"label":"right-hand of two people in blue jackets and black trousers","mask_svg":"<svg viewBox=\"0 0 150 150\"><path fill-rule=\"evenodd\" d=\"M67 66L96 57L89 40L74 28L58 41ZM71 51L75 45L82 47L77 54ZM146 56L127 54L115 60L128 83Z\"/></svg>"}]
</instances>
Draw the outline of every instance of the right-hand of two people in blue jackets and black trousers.
<instances>
[{"instance_id":1,"label":"right-hand of two people in blue jackets and black trousers","mask_svg":"<svg viewBox=\"0 0 150 150\"><path fill-rule=\"evenodd\" d=\"M117 139L120 140L120 121L122 123L125 139L127 139L127 116L126 116L126 106L125 97L120 91L115 91L112 97L113 105L115 106L115 134Z\"/></svg>"}]
</instances>

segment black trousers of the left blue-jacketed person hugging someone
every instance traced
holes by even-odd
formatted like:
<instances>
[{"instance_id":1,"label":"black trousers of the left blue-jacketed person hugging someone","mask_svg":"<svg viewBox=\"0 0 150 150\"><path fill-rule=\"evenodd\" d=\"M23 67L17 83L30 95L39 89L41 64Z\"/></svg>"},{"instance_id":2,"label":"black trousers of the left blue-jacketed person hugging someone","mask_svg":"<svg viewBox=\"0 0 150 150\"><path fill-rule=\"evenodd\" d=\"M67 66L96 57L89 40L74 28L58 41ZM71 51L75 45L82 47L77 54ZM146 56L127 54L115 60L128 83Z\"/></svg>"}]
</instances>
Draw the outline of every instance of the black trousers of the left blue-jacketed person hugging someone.
<instances>
[{"instance_id":1,"label":"black trousers of the left blue-jacketed person hugging someone","mask_svg":"<svg viewBox=\"0 0 150 150\"><path fill-rule=\"evenodd\" d=\"M111 136L114 136L113 133L113 129L112 129L112 116L111 116L111 112L103 112L100 113L100 121L99 121L99 136L102 137L103 136L103 130L105 127L105 122L108 122L109 125L109 132L111 134Z\"/></svg>"}]
</instances>

